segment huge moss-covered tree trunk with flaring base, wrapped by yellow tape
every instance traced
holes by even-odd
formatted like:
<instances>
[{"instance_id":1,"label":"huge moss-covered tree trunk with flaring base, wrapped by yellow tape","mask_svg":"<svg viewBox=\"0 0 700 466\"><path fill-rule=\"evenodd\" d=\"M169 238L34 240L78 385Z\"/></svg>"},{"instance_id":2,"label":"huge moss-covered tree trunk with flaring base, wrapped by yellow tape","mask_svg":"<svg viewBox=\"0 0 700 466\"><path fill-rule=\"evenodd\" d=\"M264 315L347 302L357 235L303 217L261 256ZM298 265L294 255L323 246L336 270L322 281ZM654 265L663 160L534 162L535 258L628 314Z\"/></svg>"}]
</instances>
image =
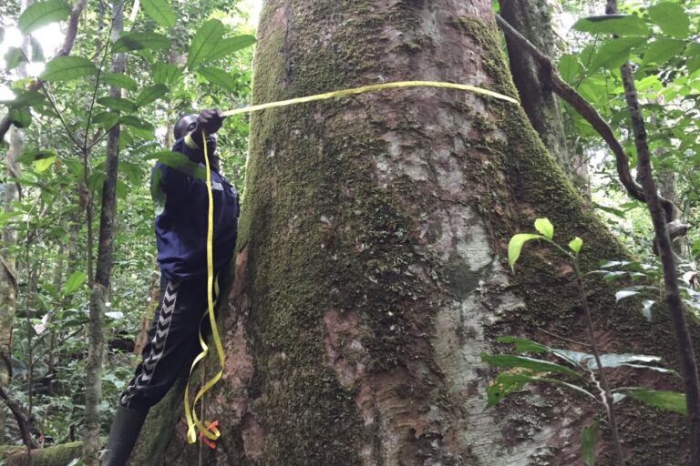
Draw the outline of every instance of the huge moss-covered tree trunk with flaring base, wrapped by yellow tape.
<instances>
[{"instance_id":1,"label":"huge moss-covered tree trunk with flaring base, wrapped by yellow tape","mask_svg":"<svg viewBox=\"0 0 700 466\"><path fill-rule=\"evenodd\" d=\"M488 0L270 0L257 47L256 103L406 79L516 95ZM558 241L583 238L584 270L626 257L525 113L418 88L267 110L251 134L227 366L207 397L222 435L202 463L581 464L599 414L582 398L532 388L483 410L495 337L585 339L571 268L530 245L511 275L510 236L547 217ZM587 285L603 349L674 362L665 319L649 338L638 309ZM132 464L196 463L180 393L152 410ZM683 463L683 420L618 410L629 464ZM607 431L597 456L611 463Z\"/></svg>"}]
</instances>

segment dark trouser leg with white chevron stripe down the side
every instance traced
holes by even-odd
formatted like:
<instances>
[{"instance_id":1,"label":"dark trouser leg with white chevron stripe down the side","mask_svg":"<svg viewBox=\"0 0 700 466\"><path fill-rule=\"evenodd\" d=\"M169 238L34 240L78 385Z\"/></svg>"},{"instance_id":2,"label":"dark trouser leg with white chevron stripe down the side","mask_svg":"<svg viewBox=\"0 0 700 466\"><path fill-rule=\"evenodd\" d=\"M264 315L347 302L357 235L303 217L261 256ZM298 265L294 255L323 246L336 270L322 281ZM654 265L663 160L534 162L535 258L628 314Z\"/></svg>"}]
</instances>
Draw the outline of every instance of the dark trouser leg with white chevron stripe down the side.
<instances>
[{"instance_id":1,"label":"dark trouser leg with white chevron stripe down the side","mask_svg":"<svg viewBox=\"0 0 700 466\"><path fill-rule=\"evenodd\" d=\"M119 397L122 406L149 410L165 396L200 351L198 332L206 309L206 279L160 280L160 303L148 343L133 379Z\"/></svg>"}]
</instances>

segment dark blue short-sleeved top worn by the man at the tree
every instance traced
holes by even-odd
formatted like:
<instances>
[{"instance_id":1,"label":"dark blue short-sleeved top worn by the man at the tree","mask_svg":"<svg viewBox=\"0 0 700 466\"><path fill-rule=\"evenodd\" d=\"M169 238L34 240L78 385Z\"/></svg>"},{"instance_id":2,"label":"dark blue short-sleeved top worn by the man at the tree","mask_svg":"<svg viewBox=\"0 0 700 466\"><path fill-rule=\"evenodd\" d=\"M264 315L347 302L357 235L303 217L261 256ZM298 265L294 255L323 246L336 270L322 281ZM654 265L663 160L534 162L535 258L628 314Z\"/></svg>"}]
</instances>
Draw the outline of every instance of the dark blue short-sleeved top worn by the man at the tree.
<instances>
[{"instance_id":1,"label":"dark blue short-sleeved top worn by the man at the tree","mask_svg":"<svg viewBox=\"0 0 700 466\"><path fill-rule=\"evenodd\" d=\"M187 174L192 167L206 174L201 149L190 149L184 138L175 141L174 152L190 158L189 167L174 168L158 162L151 173L151 193L156 205L158 264L167 279L200 279L207 275L207 185ZM170 164L172 165L172 164ZM189 168L189 169L188 169ZM236 245L238 193L221 174L211 169L214 200L214 272L226 267Z\"/></svg>"}]
</instances>

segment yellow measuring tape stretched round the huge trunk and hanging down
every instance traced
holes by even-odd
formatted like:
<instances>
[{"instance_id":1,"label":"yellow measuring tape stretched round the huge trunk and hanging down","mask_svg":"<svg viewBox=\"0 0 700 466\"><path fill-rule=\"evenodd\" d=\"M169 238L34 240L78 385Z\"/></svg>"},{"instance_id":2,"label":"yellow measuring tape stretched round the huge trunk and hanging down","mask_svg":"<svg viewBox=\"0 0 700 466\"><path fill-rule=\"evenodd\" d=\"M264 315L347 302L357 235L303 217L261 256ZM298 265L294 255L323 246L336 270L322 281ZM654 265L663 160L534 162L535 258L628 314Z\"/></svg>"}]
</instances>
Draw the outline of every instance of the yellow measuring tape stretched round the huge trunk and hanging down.
<instances>
[{"instance_id":1,"label":"yellow measuring tape stretched round the huge trunk and hanging down","mask_svg":"<svg viewBox=\"0 0 700 466\"><path fill-rule=\"evenodd\" d=\"M482 87L477 87L477 86L468 86L464 84L455 84L455 83L447 83L447 82L442 82L442 81L396 81L392 83L383 83L383 84L376 84L376 85L370 85L370 86L361 86L361 87L352 87L348 89L343 89L339 91L333 91L333 92L326 92L324 94L315 94L314 96L304 96L304 97L297 97L297 98L291 98L288 100L279 100L276 102L270 102L267 104L260 104L256 106L245 106L242 108L236 108L234 110L229 110L226 112L223 112L224 117L231 117L232 115L240 115L243 113L251 113L251 112L257 112L260 110L265 110L268 108L276 108L279 106L292 106L295 104L303 104L304 102L314 102L316 100L324 100L328 98L334 98L334 97L344 97L344 96L354 96L356 94L364 94L365 92L374 92L374 91L379 91L379 90L384 90L384 89L392 89L392 88L398 88L398 87L441 87L441 88L447 88L447 89L457 89L461 91L468 91L468 92L474 92L477 94L481 94L484 96L492 96L495 98L499 98L500 100L505 100L507 102L511 102L516 105L520 105L520 102L511 97L511 96L506 96L504 94L499 94L498 92L490 91L489 89L484 89ZM219 370L214 374L213 377L211 377L210 380L208 380L204 385L201 386L201 389L197 391L197 394L194 396L194 400L192 400L192 404L190 406L190 380L188 380L187 386L185 387L185 418L187 420L187 441L189 443L194 443L197 441L197 431L200 431L200 436L205 437L206 439L209 439L210 441L215 441L221 436L221 432L217 429L216 425L217 422L212 422L209 423L205 420L200 420L197 417L197 412L194 409L195 406L197 405L197 402L201 400L201 397L204 396L204 393L211 389L211 387L221 380L221 376L223 375L223 367L225 363L225 356L223 354L223 346L221 345L221 338L219 336L219 329L216 327L216 318L214 316L214 300L211 296L211 290L213 288L214 284L214 267L213 267L213 254L212 254L212 248L213 248L213 231L214 231L214 202L213 202L213 197L211 196L211 171L210 171L210 164L209 164L209 154L207 153L207 144L206 144L206 134L202 130L201 132L201 137L203 141L203 150L204 150L204 165L207 169L207 177L206 177L206 183L207 183L207 197L209 198L209 209L207 213L207 309L208 309L208 315L209 315L209 322L211 324L211 338L214 340L214 347L216 348L216 352L219 355ZM218 285L218 284L217 284ZM218 286L217 289L215 290L215 293L218 295ZM203 316L202 316L203 319ZM203 360L208 352L209 352L209 346L207 343L204 341L204 339L201 336L201 331L200 331L200 345L201 345L201 353L197 355L197 357L192 361L192 365L190 367L190 378L192 375L192 372L194 371L195 366Z\"/></svg>"}]
</instances>

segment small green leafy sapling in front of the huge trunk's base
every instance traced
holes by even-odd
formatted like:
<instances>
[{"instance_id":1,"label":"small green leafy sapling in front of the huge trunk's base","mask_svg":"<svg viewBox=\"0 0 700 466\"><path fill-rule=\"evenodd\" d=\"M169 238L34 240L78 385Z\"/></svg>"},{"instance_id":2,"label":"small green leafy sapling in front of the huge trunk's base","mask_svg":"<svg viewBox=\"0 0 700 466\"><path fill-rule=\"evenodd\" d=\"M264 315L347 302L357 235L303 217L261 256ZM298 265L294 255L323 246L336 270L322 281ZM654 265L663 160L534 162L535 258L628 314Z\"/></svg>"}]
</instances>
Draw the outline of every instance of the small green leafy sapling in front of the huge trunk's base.
<instances>
[{"instance_id":1,"label":"small green leafy sapling in front of the huge trunk's base","mask_svg":"<svg viewBox=\"0 0 700 466\"><path fill-rule=\"evenodd\" d=\"M627 366L643 370L656 370L659 372L674 373L662 367L647 365L656 362L660 358L643 354L607 353L601 354L593 333L591 310L588 307L586 293L583 285L582 273L579 266L579 252L583 246L582 238L573 238L569 242L569 249L561 247L554 242L554 227L547 218L535 220L535 229L539 234L520 233L512 238L508 245L508 261L510 268L514 269L515 263L520 257L520 250L530 240L539 239L551 244L559 250L571 263L574 270L579 295L581 299L586 327L588 329L588 347L590 353L574 351L571 349L551 348L540 342L513 336L503 336L497 339L499 343L512 343L520 353L549 354L561 360L561 363L551 360L541 360L530 356L516 354L488 354L482 353L481 360L492 366L507 368L500 372L487 389L487 408L494 406L499 400L514 391L521 390L527 383L548 383L558 385L582 393L584 396L596 400L605 410L608 426L612 434L612 441L620 466L624 465L624 456L620 435L617 430L617 420L613 409L617 403L627 397L642 401L648 405L663 410L671 410L679 414L686 413L685 394L666 390L652 390L642 387L623 387L611 389L605 375L605 368L617 368ZM582 430L582 458L587 466L594 464L594 449L598 441L599 422L596 420Z\"/></svg>"}]
</instances>

